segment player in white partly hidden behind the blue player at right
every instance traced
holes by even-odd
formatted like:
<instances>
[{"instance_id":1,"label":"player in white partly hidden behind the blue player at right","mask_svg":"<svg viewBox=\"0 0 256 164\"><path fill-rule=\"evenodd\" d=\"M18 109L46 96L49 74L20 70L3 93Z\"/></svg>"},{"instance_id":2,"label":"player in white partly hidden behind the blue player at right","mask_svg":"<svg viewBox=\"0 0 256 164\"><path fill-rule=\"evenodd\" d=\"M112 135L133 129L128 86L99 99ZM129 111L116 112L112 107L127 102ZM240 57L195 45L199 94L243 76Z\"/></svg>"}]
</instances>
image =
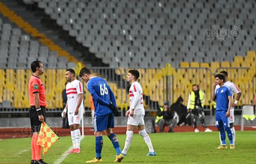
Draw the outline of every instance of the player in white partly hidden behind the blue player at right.
<instances>
[{"instance_id":1,"label":"player in white partly hidden behind the blue player at right","mask_svg":"<svg viewBox=\"0 0 256 164\"><path fill-rule=\"evenodd\" d=\"M233 96L234 96L234 93L237 94L237 97L236 97L236 100L234 102L232 102L232 108L230 110L230 116L229 116L229 126L230 126L230 129L231 129L231 132L232 132L232 136L233 136L233 142L234 142L234 145L235 145L235 137L236 137L236 131L235 131L235 128L234 128L234 106L237 105L240 97L241 97L241 91L240 89L232 82L230 81L227 81L227 76L228 76L228 73L226 71L221 71L220 74L224 75L225 76L225 81L224 81L224 85L230 87L233 95L232 95L232 100L233 100ZM219 85L216 86L216 89L219 88Z\"/></svg>"}]
</instances>

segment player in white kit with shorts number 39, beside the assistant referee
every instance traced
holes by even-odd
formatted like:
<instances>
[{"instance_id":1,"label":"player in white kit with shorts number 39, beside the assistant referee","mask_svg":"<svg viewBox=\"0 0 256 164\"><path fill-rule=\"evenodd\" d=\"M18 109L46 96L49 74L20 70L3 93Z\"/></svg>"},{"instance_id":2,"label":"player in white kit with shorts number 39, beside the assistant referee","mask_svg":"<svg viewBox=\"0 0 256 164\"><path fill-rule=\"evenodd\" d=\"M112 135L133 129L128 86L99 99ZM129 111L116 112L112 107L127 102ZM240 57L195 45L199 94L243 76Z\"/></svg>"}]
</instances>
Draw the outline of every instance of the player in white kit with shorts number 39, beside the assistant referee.
<instances>
[{"instance_id":1,"label":"player in white kit with shorts number 39, beside the assistant referee","mask_svg":"<svg viewBox=\"0 0 256 164\"><path fill-rule=\"evenodd\" d=\"M66 85L67 104L61 113L64 118L68 112L68 124L71 130L73 149L68 153L80 153L80 129L79 125L83 116L83 87L80 81L75 79L75 71L67 69L65 78L69 83Z\"/></svg>"}]
</instances>

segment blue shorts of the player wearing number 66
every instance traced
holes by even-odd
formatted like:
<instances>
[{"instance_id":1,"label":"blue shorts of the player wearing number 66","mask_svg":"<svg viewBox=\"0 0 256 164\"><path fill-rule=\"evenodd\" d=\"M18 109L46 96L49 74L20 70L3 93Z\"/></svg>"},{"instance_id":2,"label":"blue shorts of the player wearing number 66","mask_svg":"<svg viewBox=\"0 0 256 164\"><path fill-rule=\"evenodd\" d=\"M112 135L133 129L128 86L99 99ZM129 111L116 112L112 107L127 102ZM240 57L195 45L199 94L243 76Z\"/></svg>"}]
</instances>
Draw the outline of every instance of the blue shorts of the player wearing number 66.
<instances>
[{"instance_id":1,"label":"blue shorts of the player wearing number 66","mask_svg":"<svg viewBox=\"0 0 256 164\"><path fill-rule=\"evenodd\" d=\"M109 113L102 116L94 115L93 128L94 132L101 132L108 128L114 128L114 114Z\"/></svg>"}]
</instances>

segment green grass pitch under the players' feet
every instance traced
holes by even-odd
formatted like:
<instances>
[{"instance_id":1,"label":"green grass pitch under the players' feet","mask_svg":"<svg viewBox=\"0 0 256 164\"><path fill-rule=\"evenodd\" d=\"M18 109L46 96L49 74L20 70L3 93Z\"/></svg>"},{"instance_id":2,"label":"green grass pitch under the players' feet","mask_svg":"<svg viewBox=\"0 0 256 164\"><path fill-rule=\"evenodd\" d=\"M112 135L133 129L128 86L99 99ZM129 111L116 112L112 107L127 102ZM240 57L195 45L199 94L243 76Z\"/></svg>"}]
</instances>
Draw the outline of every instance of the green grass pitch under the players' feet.
<instances>
[{"instance_id":1,"label":"green grass pitch under the players' feet","mask_svg":"<svg viewBox=\"0 0 256 164\"><path fill-rule=\"evenodd\" d=\"M156 133L149 134L157 156L146 157L147 145L139 134L133 135L128 157L121 163L256 163L256 132L236 132L236 148L215 149L219 145L219 133ZM125 135L117 135L121 150ZM31 160L31 138L4 139L0 141L1 164L28 164ZM229 143L226 137L226 142ZM70 137L60 137L42 159L53 164L71 146ZM103 163L113 163L115 151L109 138L103 137ZM63 164L85 163L95 157L95 138L85 136L81 141L81 153L68 155Z\"/></svg>"}]
</instances>

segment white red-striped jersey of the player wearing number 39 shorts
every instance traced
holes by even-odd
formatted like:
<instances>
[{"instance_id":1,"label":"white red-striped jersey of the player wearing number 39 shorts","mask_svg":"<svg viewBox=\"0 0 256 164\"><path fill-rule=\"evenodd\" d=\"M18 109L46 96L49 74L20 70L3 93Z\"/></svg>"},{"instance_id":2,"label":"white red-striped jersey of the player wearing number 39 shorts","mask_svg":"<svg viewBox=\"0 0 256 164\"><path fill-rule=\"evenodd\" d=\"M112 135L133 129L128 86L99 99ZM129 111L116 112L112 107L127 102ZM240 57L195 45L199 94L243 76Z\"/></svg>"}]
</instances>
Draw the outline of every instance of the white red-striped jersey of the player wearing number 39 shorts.
<instances>
[{"instance_id":1,"label":"white red-striped jersey of the player wearing number 39 shorts","mask_svg":"<svg viewBox=\"0 0 256 164\"><path fill-rule=\"evenodd\" d=\"M74 80L66 85L68 113L73 113L76 109L78 102L78 94L83 93L83 86L80 81ZM83 112L83 100L79 107L79 112Z\"/></svg>"}]
</instances>

